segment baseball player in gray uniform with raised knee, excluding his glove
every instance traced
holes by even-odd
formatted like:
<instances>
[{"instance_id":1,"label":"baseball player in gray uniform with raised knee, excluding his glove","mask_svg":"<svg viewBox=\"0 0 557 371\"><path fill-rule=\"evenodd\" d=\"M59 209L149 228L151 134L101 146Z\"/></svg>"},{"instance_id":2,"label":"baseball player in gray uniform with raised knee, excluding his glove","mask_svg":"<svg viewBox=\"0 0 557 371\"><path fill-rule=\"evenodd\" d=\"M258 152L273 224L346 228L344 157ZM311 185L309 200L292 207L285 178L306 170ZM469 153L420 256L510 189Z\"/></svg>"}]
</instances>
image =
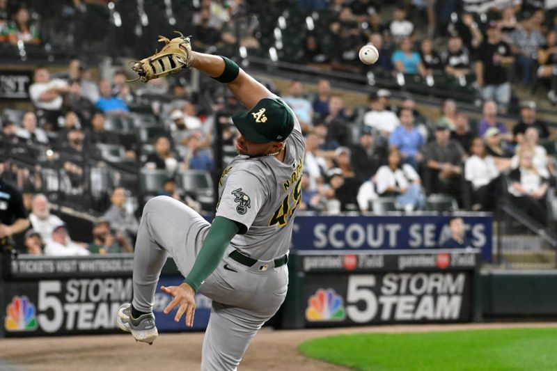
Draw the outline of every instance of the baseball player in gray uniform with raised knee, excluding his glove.
<instances>
[{"instance_id":1,"label":"baseball player in gray uniform with raised knee, excluding his glove","mask_svg":"<svg viewBox=\"0 0 557 371\"><path fill-rule=\"evenodd\" d=\"M190 52L189 67L221 81L249 111L233 116L240 155L219 180L212 223L166 196L148 201L134 256L134 299L118 311L118 326L138 341L157 338L152 314L155 288L167 255L185 276L161 287L194 323L196 292L212 299L203 341L202 370L236 370L249 342L276 313L288 286L292 219L301 202L304 139L294 113L281 98L230 59Z\"/></svg>"}]
</instances>

